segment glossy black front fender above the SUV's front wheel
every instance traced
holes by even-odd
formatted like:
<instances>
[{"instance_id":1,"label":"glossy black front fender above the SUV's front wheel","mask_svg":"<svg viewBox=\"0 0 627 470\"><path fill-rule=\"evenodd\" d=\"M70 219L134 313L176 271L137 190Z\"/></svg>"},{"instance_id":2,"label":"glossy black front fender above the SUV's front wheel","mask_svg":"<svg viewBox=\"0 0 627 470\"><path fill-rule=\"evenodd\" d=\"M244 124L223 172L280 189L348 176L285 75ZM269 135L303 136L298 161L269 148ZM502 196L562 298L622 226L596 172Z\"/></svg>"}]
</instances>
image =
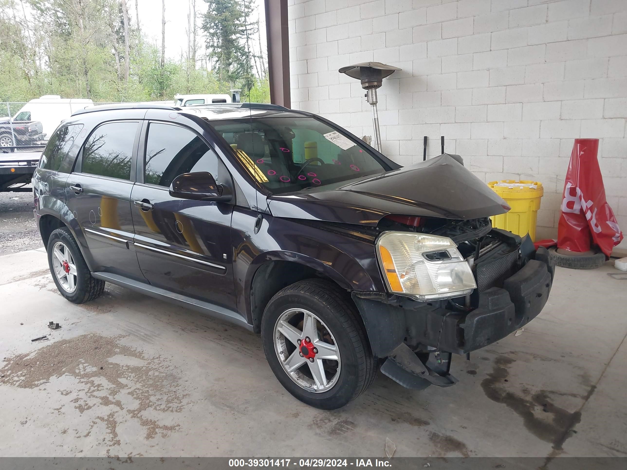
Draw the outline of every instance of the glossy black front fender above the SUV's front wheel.
<instances>
[{"instance_id":1,"label":"glossy black front fender above the SUV's front wheel","mask_svg":"<svg viewBox=\"0 0 627 470\"><path fill-rule=\"evenodd\" d=\"M285 261L294 268L285 268L282 283L264 286L265 294L303 279L303 275L329 278L347 291L385 290L374 253L374 243L369 239L350 237L334 231L328 224L307 224L297 219L283 219L263 214L258 231L257 213L239 207L233 212L232 235L234 246L234 281L238 310L256 325L258 310L265 308L263 300L251 300L253 283L261 266L272 261ZM302 266L298 272L298 266ZM269 298L268 298L269 300Z\"/></svg>"}]
</instances>

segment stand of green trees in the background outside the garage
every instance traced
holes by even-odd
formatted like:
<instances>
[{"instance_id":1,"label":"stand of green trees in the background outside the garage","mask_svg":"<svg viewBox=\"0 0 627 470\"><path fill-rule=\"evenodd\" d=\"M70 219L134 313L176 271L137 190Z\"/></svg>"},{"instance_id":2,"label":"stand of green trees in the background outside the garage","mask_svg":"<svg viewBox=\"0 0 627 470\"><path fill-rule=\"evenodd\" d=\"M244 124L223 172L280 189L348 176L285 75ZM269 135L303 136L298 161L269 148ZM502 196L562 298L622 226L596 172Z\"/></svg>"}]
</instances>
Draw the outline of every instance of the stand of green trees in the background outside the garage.
<instances>
[{"instance_id":1,"label":"stand of green trees in the background outside the garage","mask_svg":"<svg viewBox=\"0 0 627 470\"><path fill-rule=\"evenodd\" d=\"M206 61L196 66L196 48L161 66L160 44L142 36L128 10L127 40L121 1L0 0L0 100L23 102L41 95L94 102L173 100L177 93L242 88L243 100L269 101L265 66L254 62L259 57L251 51L259 31L258 21L250 19L250 4L204 0L210 8L202 29L210 27L214 38L208 40L213 44L213 70L208 70ZM203 65L202 60L198 63Z\"/></svg>"}]
</instances>

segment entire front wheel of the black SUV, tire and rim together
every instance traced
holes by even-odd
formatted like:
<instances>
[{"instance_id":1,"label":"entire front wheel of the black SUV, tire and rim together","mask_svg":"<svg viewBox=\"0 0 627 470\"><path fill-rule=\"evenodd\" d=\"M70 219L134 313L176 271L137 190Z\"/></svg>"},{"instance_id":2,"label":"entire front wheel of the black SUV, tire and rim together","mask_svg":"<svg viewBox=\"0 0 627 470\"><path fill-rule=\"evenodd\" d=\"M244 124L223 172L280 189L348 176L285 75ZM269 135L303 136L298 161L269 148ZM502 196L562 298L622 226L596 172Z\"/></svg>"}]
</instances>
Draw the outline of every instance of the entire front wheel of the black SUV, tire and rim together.
<instances>
[{"instance_id":1,"label":"entire front wheel of the black SUV, tire and rim together","mask_svg":"<svg viewBox=\"0 0 627 470\"><path fill-rule=\"evenodd\" d=\"M359 313L329 281L306 279L280 290L266 306L261 339L279 382L316 408L344 406L376 375Z\"/></svg>"}]
</instances>

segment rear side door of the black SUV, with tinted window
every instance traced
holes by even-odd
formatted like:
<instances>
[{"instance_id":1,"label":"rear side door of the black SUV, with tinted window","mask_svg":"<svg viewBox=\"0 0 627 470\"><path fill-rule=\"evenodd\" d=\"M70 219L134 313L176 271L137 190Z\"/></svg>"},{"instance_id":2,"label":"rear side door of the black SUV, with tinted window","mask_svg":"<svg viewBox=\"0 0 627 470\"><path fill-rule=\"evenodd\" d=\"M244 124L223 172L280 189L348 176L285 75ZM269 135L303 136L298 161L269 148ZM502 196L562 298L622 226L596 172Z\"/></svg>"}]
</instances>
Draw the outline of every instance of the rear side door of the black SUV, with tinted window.
<instances>
[{"instance_id":1,"label":"rear side door of the black SUV, with tinted window","mask_svg":"<svg viewBox=\"0 0 627 470\"><path fill-rule=\"evenodd\" d=\"M65 191L92 256L92 270L145 282L129 245L134 237L130 193L139 131L139 120L98 125L85 141Z\"/></svg>"}]
</instances>

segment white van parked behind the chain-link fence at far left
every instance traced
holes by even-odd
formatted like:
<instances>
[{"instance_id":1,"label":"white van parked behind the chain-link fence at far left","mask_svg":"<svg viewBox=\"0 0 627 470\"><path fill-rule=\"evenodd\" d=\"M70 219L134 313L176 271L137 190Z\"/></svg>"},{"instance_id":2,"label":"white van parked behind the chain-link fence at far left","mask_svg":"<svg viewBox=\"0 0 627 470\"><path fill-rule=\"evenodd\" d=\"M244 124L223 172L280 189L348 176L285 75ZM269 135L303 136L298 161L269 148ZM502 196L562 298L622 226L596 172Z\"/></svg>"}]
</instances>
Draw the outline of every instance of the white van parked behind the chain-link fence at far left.
<instances>
[{"instance_id":1,"label":"white van parked behind the chain-link fence at far left","mask_svg":"<svg viewBox=\"0 0 627 470\"><path fill-rule=\"evenodd\" d=\"M59 95L44 95L30 100L13 118L14 121L39 121L46 139L50 138L62 120L73 112L93 105L92 100L83 98L61 98Z\"/></svg>"}]
</instances>

